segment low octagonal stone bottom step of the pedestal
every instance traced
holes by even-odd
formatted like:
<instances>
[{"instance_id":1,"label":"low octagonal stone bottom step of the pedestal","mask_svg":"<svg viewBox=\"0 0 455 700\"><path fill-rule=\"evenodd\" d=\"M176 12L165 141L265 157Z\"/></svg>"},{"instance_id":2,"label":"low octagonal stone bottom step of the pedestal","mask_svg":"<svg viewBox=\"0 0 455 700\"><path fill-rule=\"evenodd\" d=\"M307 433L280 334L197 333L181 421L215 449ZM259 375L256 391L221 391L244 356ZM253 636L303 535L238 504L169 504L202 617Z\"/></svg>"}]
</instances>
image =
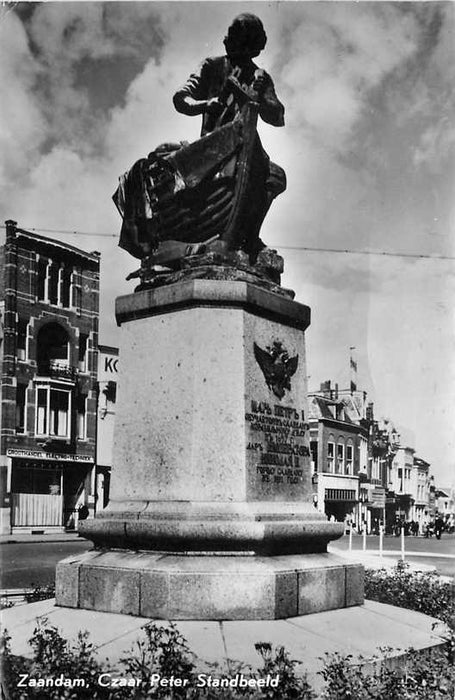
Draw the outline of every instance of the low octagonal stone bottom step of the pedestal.
<instances>
[{"instance_id":1,"label":"low octagonal stone bottom step of the pedestal","mask_svg":"<svg viewBox=\"0 0 455 700\"><path fill-rule=\"evenodd\" d=\"M363 567L332 554L91 551L57 566L57 605L173 620L273 620L363 603Z\"/></svg>"}]
</instances>

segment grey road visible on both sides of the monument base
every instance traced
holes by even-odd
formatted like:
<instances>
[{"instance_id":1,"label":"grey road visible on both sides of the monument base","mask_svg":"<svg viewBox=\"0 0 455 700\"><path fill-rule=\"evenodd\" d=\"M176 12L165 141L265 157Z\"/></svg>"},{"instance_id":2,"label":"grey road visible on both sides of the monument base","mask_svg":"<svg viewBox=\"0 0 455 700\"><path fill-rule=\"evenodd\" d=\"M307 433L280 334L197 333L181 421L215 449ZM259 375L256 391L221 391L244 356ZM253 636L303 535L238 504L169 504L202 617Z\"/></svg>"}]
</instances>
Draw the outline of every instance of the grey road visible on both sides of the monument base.
<instances>
[{"instance_id":1,"label":"grey road visible on both sides of the monument base","mask_svg":"<svg viewBox=\"0 0 455 700\"><path fill-rule=\"evenodd\" d=\"M353 549L362 549L363 540L353 536ZM367 551L377 552L379 537L367 537ZM334 548L348 549L349 537L342 537L332 545ZM408 561L416 561L435 566L445 576L455 578L455 535L442 535L440 540L432 537L406 537L406 551L419 555L406 555ZM60 559L92 549L90 542L72 540L68 542L23 542L10 543L0 546L0 561L2 576L0 588L34 588L45 586L54 581L55 566ZM385 537L384 550L400 551L399 537Z\"/></svg>"}]
</instances>

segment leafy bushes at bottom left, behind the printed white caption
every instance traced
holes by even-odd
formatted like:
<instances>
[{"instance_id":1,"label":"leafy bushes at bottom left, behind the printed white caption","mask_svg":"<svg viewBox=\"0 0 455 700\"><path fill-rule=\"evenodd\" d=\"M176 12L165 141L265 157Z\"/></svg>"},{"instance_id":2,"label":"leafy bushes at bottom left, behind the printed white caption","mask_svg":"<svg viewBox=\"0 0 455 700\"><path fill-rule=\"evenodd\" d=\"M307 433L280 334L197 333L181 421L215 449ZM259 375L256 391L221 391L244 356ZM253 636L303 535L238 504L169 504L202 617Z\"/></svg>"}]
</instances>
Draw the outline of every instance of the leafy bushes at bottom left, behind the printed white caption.
<instances>
[{"instance_id":1,"label":"leafy bushes at bottom left, behind the printed white caption","mask_svg":"<svg viewBox=\"0 0 455 700\"><path fill-rule=\"evenodd\" d=\"M282 647L275 651L270 644L258 644L256 648L262 658L263 666L252 671L242 664L231 665L227 675L220 673L213 665L210 673L213 677L226 682L236 673L248 678L266 678L268 674L280 674L278 688L230 688L198 687L193 655L185 638L177 627L170 623L160 625L150 623L144 628L145 636L134 644L129 654L120 660L120 668L111 669L101 665L95 658L95 649L88 641L87 632L79 632L76 642L64 639L57 628L49 625L46 619L39 621L30 639L33 660L27 661L11 654L10 637L3 633L3 684L4 697L10 700L28 698L46 698L46 700L66 700L72 698L92 698L93 700L129 700L133 698L154 698L156 700L223 700L248 698L249 700L278 700L281 698L298 698L313 700L316 695L311 690L306 677L297 677L296 661L292 661ZM18 687L20 674L28 673L33 679L52 679L60 676L67 679L82 680L78 687ZM103 687L98 683L100 674L111 673L112 677L138 679L135 687ZM164 678L175 676L188 679L188 684L173 687L152 684L152 674Z\"/></svg>"}]
</instances>

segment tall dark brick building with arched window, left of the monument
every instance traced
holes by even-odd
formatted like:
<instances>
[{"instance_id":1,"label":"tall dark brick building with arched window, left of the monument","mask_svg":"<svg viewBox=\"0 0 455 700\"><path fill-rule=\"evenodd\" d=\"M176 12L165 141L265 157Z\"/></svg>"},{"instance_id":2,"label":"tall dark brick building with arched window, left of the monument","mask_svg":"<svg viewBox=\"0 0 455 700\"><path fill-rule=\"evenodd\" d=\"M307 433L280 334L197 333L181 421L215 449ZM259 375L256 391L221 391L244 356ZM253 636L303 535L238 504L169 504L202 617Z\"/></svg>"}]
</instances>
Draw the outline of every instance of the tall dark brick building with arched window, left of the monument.
<instances>
[{"instance_id":1,"label":"tall dark brick building with arched window, left of the monument","mask_svg":"<svg viewBox=\"0 0 455 700\"><path fill-rule=\"evenodd\" d=\"M73 528L94 509L99 253L6 222L1 529Z\"/></svg>"}]
</instances>

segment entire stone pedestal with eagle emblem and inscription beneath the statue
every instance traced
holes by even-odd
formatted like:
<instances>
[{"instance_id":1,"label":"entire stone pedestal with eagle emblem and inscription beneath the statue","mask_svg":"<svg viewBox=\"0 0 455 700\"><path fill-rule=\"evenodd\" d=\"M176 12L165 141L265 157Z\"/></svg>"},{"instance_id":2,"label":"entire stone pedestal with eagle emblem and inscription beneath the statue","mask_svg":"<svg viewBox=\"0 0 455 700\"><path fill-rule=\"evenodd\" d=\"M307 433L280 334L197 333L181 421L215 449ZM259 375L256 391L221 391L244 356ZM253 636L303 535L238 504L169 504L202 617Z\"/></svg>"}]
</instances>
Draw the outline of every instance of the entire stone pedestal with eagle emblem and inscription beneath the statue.
<instances>
[{"instance_id":1,"label":"entire stone pedestal with eagle emblem and inscription beneath the statue","mask_svg":"<svg viewBox=\"0 0 455 700\"><path fill-rule=\"evenodd\" d=\"M80 524L101 551L59 564L57 603L173 619L360 604L361 567L326 553L343 525L312 502L309 308L195 279L116 313L111 500Z\"/></svg>"}]
</instances>

